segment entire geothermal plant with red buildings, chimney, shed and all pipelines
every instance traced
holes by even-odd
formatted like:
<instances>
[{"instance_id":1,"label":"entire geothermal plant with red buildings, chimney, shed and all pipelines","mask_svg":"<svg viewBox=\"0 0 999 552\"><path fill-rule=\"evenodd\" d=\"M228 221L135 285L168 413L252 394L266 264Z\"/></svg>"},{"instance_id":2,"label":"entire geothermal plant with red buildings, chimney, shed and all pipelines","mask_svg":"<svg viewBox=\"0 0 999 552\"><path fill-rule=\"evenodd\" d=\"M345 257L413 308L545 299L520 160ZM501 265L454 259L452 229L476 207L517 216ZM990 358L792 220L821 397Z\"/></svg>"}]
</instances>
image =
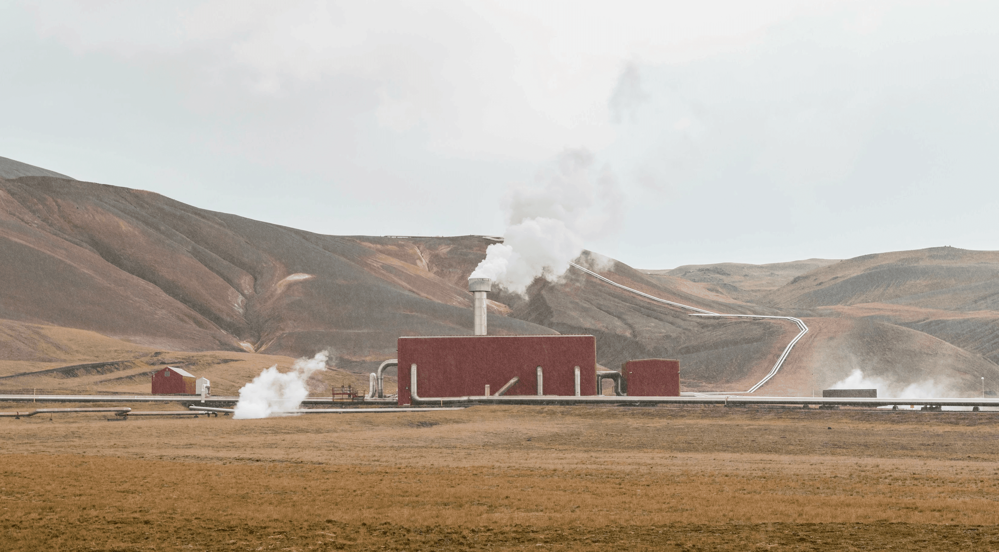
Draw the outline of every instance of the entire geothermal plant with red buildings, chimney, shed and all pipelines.
<instances>
[{"instance_id":1,"label":"entire geothermal plant with red buildings, chimney, shed and all pipelines","mask_svg":"<svg viewBox=\"0 0 999 552\"><path fill-rule=\"evenodd\" d=\"M582 267L572 267L604 283L632 291L646 298L691 310L694 316L784 318L798 324L801 331L786 345L770 371L745 391L680 392L679 361L666 358L635 358L623 362L620 370L600 369L596 363L593 335L490 335L488 331L489 278L469 279L474 295L473 335L401 336L398 358L381 362L369 377L367 394L306 397L297 408L275 410L273 414L422 412L440 408L464 408L475 404L606 404L682 405L714 404L746 406L772 404L785 407L838 408L839 406L899 406L940 410L945 406L999 406L996 398L892 398L878 397L875 389L832 389L821 397L749 395L776 374L792 347L808 331L798 318L753 314L724 314L668 301L614 282ZM385 391L386 371L398 368L398 390ZM604 395L602 382L613 382L613 394ZM40 408L32 411L0 412L0 416L24 417L59 412L113 412L121 419L136 415L219 415L235 412L238 396L211 394L205 378L177 368L154 374L151 395L0 395L0 401L135 403L178 402L187 410L134 411L129 407ZM343 395L344 393L340 393ZM747 396L749 395L749 396ZM302 406L308 406L303 408ZM324 407L326 406L326 407ZM332 407L339 406L339 407ZM368 406L368 407L365 407Z\"/></svg>"}]
</instances>

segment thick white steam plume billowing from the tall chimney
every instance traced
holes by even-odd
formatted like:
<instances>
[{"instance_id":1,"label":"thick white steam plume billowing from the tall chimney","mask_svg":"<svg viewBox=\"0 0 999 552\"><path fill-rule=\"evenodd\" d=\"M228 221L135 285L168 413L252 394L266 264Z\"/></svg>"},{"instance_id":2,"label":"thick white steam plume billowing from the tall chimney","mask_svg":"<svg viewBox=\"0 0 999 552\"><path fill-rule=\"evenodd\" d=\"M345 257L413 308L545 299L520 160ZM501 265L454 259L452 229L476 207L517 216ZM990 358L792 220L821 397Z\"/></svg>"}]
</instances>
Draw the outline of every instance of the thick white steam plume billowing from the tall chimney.
<instances>
[{"instance_id":1,"label":"thick white steam plume billowing from the tall chimney","mask_svg":"<svg viewBox=\"0 0 999 552\"><path fill-rule=\"evenodd\" d=\"M489 277L523 293L534 278L555 281L586 240L617 230L621 193L607 169L592 168L586 150L566 150L538 175L539 187L513 188L506 199L504 242L486 250L470 277Z\"/></svg>"}]
</instances>

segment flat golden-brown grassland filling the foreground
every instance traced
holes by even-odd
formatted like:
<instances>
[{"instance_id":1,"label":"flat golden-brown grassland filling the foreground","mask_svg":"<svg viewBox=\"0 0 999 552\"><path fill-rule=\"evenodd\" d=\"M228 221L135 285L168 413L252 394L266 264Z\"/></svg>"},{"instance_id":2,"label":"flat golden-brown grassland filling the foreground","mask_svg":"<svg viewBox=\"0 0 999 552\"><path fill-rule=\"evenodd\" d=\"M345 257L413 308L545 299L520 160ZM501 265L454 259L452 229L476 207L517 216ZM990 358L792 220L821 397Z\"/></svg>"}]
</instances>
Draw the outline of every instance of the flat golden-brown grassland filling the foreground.
<instances>
[{"instance_id":1,"label":"flat golden-brown grassland filling the foreground","mask_svg":"<svg viewBox=\"0 0 999 552\"><path fill-rule=\"evenodd\" d=\"M2 418L0 549L999 550L997 416Z\"/></svg>"}]
</instances>

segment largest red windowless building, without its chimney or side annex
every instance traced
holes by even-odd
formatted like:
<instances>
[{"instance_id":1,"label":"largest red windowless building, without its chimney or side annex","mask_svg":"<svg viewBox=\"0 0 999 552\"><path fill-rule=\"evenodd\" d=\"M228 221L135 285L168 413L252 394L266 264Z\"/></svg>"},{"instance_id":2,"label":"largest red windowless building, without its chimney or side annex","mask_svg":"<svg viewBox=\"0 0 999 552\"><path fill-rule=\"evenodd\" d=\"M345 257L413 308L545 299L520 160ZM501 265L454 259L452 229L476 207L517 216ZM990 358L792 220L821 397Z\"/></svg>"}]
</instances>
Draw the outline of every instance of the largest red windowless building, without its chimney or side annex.
<instances>
[{"instance_id":1,"label":"largest red windowless building, without its chimney or side annex","mask_svg":"<svg viewBox=\"0 0 999 552\"><path fill-rule=\"evenodd\" d=\"M420 396L496 393L513 376L506 395L537 394L537 366L546 395L596 389L596 339L592 335L461 335L399 338L399 403L410 403L410 366L417 364Z\"/></svg>"}]
</instances>

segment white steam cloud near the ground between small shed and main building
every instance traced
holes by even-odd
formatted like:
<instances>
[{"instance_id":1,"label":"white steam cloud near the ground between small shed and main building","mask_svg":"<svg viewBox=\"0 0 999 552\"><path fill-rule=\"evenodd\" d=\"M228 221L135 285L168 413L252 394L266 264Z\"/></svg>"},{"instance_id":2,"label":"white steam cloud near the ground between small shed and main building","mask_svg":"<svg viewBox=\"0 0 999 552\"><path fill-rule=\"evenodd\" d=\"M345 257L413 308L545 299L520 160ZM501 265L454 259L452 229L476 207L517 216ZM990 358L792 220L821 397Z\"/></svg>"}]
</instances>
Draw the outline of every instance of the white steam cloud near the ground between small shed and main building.
<instances>
[{"instance_id":1,"label":"white steam cloud near the ground between small shed and main building","mask_svg":"<svg viewBox=\"0 0 999 552\"><path fill-rule=\"evenodd\" d=\"M253 381L240 389L236 403L236 419L266 418L294 410L309 396L309 377L326 369L330 351L316 353L312 358L299 358L292 369L279 372L278 365L265 368Z\"/></svg>"}]
</instances>

